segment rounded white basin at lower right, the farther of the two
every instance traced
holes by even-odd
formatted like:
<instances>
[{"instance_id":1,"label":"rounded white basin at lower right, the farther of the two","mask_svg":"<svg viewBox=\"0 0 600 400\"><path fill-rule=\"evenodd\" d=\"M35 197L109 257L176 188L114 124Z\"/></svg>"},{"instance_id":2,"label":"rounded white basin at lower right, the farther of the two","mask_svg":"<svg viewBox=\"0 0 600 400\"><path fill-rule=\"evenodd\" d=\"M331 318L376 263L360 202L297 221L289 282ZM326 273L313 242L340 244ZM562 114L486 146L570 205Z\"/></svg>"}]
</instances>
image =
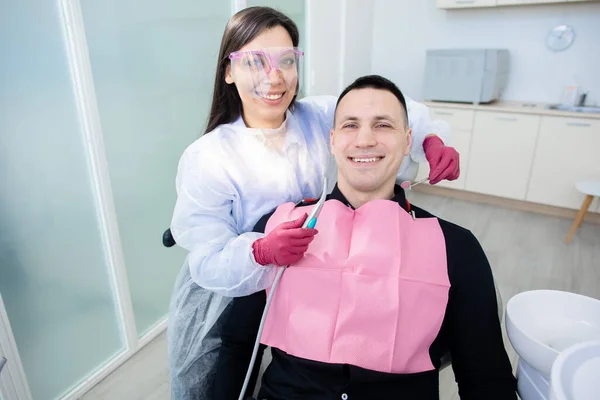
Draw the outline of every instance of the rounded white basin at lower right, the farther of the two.
<instances>
[{"instance_id":1,"label":"rounded white basin at lower right, the farther of the two","mask_svg":"<svg viewBox=\"0 0 600 400\"><path fill-rule=\"evenodd\" d=\"M506 305L506 331L519 357L550 378L561 351L600 341L600 300L558 290L519 293Z\"/></svg>"}]
</instances>

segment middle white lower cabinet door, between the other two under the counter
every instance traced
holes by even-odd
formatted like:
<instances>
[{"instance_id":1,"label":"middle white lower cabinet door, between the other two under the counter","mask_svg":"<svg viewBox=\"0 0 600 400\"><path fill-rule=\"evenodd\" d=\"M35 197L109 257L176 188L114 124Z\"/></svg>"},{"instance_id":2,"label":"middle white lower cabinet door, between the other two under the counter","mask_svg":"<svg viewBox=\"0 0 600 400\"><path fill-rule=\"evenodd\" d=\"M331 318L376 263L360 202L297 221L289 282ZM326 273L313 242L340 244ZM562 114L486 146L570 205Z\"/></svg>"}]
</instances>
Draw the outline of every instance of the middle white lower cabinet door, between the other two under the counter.
<instances>
[{"instance_id":1,"label":"middle white lower cabinet door, between the other two under the counter","mask_svg":"<svg viewBox=\"0 0 600 400\"><path fill-rule=\"evenodd\" d=\"M540 117L477 111L465 188L524 200Z\"/></svg>"}]
</instances>

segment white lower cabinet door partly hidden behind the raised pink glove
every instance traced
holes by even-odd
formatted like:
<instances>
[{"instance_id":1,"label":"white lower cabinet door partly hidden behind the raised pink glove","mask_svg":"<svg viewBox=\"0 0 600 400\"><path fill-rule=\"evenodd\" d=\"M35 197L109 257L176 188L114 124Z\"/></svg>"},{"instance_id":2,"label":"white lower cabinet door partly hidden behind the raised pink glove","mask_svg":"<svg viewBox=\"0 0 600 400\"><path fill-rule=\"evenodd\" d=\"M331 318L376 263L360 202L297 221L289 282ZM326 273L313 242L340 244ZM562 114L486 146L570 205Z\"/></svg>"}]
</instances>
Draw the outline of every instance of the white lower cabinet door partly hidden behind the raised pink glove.
<instances>
[{"instance_id":1,"label":"white lower cabinet door partly hidden behind the raised pink glove","mask_svg":"<svg viewBox=\"0 0 600 400\"><path fill-rule=\"evenodd\" d=\"M473 128L473 110L460 110L452 108L431 108L431 119L444 120L452 128L452 138L450 146L454 147L460 154L460 176L454 181L443 180L436 186L447 187L451 189L464 189L469 153L471 147L471 132ZM424 162L419 165L417 180L429 176L429 163Z\"/></svg>"}]
</instances>

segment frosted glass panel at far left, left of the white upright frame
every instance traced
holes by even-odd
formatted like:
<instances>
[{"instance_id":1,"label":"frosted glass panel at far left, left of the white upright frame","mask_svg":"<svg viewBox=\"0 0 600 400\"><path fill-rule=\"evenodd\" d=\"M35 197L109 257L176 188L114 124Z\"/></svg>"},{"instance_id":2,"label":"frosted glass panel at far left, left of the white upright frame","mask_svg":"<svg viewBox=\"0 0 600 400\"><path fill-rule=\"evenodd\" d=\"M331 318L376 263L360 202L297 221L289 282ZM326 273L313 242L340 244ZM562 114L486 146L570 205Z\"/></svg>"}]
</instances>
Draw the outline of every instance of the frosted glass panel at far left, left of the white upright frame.
<instances>
[{"instance_id":1,"label":"frosted glass panel at far left, left of the white upright frame","mask_svg":"<svg viewBox=\"0 0 600 400\"><path fill-rule=\"evenodd\" d=\"M33 398L124 351L57 1L0 0L0 293Z\"/></svg>"}]
</instances>

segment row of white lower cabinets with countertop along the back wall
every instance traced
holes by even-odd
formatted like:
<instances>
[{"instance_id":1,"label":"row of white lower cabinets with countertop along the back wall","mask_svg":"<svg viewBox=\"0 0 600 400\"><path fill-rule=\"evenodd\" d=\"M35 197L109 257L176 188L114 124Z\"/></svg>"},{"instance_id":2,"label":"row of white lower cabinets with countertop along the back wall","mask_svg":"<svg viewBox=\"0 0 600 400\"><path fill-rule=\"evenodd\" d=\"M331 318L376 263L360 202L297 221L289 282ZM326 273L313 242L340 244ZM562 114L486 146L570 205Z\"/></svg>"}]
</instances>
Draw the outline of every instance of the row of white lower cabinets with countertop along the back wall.
<instances>
[{"instance_id":1,"label":"row of white lower cabinets with countertop along the back wall","mask_svg":"<svg viewBox=\"0 0 600 400\"><path fill-rule=\"evenodd\" d=\"M460 178L435 186L578 210L575 185L600 180L600 118L595 115L523 111L523 103L490 105L426 103L433 120L452 128L450 146L460 154ZM429 175L427 162L417 180ZM595 199L589 211L600 213Z\"/></svg>"}]
</instances>

